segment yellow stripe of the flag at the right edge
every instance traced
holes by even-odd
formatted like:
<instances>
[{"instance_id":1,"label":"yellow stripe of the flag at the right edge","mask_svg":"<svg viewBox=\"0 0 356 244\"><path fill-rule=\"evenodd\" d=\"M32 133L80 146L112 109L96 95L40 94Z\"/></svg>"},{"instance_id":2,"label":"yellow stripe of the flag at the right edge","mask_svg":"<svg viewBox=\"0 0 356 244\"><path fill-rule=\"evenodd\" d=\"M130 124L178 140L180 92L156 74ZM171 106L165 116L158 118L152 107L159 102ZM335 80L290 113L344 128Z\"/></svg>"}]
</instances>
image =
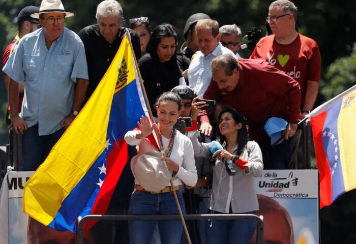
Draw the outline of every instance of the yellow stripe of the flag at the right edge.
<instances>
[{"instance_id":1,"label":"yellow stripe of the flag at the right edge","mask_svg":"<svg viewBox=\"0 0 356 244\"><path fill-rule=\"evenodd\" d=\"M342 99L338 118L338 137L345 191L356 188L356 90Z\"/></svg>"}]
</instances>

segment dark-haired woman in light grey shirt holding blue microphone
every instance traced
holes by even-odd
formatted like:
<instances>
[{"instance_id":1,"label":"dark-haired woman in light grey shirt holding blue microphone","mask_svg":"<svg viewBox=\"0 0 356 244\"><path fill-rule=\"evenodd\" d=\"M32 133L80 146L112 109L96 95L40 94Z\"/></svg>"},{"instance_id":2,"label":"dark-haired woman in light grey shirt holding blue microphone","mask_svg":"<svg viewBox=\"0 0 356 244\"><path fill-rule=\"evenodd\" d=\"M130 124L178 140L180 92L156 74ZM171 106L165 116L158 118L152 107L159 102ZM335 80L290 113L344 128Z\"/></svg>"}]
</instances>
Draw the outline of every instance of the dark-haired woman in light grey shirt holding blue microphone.
<instances>
[{"instance_id":1,"label":"dark-haired woman in light grey shirt holding blue microphone","mask_svg":"<svg viewBox=\"0 0 356 244\"><path fill-rule=\"evenodd\" d=\"M208 214L255 214L258 201L254 177L262 173L261 149L255 141L249 140L245 118L235 109L224 108L218 123L217 141L223 149L213 155L216 161ZM197 135L198 131L189 135L195 156L209 157L212 144L199 143ZM231 172L233 170L235 173ZM250 243L255 229L254 220L209 220L205 222L206 243L226 243L227 240L229 243Z\"/></svg>"}]
</instances>

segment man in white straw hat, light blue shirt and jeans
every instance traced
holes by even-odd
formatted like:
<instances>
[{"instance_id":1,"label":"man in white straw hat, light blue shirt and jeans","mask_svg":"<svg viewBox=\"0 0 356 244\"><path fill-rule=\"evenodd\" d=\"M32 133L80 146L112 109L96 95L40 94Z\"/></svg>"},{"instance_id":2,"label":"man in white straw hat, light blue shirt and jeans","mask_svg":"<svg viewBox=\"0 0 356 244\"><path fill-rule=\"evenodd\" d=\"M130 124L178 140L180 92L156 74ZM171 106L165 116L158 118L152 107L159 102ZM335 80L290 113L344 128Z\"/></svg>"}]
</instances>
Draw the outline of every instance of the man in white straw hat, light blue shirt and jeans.
<instances>
[{"instance_id":1,"label":"man in white straw hat, light blue shirt and jeans","mask_svg":"<svg viewBox=\"0 0 356 244\"><path fill-rule=\"evenodd\" d=\"M52 146L78 114L84 101L88 74L83 43L64 27L60 0L43 0L39 18L42 28L24 36L4 72L10 77L11 123L22 134L24 171L36 170ZM26 80L21 114L16 106L18 86Z\"/></svg>"}]
</instances>

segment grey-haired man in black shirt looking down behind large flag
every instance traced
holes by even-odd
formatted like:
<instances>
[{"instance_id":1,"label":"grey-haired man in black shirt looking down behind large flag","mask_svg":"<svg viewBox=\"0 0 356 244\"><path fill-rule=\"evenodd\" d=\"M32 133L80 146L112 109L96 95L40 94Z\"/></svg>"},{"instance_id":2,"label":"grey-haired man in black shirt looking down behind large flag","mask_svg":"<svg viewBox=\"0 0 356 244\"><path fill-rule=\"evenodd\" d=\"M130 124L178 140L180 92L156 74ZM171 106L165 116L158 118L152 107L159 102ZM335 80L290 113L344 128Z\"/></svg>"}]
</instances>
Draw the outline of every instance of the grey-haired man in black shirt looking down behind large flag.
<instances>
[{"instance_id":1,"label":"grey-haired man in black shirt looking down behind large flag","mask_svg":"<svg viewBox=\"0 0 356 244\"><path fill-rule=\"evenodd\" d=\"M86 26L78 33L84 43L89 73L86 101L92 96L109 68L127 29L130 32L136 59L141 57L140 38L132 29L122 27L123 9L117 1L101 2L97 8L96 18L98 24Z\"/></svg>"}]
</instances>

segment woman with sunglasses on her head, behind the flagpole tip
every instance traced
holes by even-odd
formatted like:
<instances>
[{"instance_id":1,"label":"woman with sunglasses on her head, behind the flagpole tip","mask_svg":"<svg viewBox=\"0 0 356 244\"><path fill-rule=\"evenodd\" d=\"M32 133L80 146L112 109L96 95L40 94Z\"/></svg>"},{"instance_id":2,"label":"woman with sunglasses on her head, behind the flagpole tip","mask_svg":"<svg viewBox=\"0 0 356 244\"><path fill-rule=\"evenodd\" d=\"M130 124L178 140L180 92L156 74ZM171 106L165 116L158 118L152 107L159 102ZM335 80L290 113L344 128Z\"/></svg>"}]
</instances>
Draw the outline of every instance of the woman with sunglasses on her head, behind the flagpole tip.
<instances>
[{"instance_id":1,"label":"woman with sunglasses on her head, behind the flagpole tip","mask_svg":"<svg viewBox=\"0 0 356 244\"><path fill-rule=\"evenodd\" d=\"M151 25L147 17L139 17L130 19L130 29L140 37L141 55L146 54L146 47L151 38Z\"/></svg>"}]
</instances>

